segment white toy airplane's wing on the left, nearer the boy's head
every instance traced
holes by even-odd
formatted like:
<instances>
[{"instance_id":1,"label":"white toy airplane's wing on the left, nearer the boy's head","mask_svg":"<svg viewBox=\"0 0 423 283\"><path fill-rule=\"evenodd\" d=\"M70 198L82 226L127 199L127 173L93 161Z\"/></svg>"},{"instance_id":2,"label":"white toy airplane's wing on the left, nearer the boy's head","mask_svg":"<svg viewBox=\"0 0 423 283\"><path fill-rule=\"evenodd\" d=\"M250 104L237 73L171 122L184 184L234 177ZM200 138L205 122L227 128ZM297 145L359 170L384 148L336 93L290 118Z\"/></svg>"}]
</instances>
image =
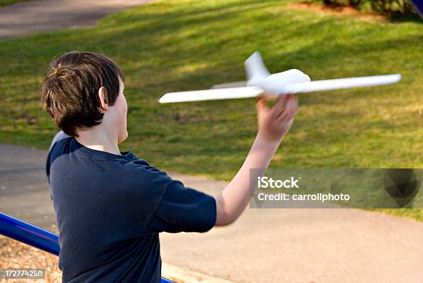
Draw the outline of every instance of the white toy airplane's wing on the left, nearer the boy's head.
<instances>
[{"instance_id":1,"label":"white toy airplane's wing on the left, nearer the boy's head","mask_svg":"<svg viewBox=\"0 0 423 283\"><path fill-rule=\"evenodd\" d=\"M236 99L257 97L264 92L258 86L246 86L241 88L216 88L210 90L192 90L182 92L168 92L160 97L160 103L202 101L214 99Z\"/></svg>"}]
</instances>

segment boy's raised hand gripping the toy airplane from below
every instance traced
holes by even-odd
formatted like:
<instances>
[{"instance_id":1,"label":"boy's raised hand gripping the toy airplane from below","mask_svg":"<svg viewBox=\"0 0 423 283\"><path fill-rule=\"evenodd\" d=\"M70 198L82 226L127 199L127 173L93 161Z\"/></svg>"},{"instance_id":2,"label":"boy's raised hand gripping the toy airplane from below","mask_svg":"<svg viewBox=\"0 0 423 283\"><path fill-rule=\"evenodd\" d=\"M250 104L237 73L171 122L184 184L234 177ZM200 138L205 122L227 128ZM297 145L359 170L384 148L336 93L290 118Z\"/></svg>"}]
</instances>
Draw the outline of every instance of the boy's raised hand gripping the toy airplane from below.
<instances>
[{"instance_id":1,"label":"boy's raised hand gripping the toy airplane from below","mask_svg":"<svg viewBox=\"0 0 423 283\"><path fill-rule=\"evenodd\" d=\"M272 108L266 106L266 101L264 97L259 97L256 102L258 136L267 142L280 143L292 126L298 110L298 99L294 95L279 95Z\"/></svg>"}]
</instances>

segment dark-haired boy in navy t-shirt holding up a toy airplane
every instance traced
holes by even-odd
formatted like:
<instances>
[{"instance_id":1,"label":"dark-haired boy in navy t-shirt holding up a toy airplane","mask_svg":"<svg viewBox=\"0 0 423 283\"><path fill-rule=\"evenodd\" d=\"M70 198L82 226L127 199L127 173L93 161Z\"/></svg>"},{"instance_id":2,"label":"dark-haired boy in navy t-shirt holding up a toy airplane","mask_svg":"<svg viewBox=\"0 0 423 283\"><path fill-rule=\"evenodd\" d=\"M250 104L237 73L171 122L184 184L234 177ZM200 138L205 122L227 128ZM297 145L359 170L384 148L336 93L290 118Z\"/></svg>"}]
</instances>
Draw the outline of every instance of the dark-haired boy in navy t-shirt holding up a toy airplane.
<instances>
[{"instance_id":1,"label":"dark-haired boy in navy t-shirt holding up a toy airplane","mask_svg":"<svg viewBox=\"0 0 423 283\"><path fill-rule=\"evenodd\" d=\"M159 282L158 233L206 232L234 222L250 200L250 168L267 168L297 111L292 95L271 109L265 99L257 101L254 144L215 199L120 152L128 137L127 106L124 75L111 59L62 55L50 64L41 97L63 131L52 142L46 171L64 282Z\"/></svg>"}]
</instances>

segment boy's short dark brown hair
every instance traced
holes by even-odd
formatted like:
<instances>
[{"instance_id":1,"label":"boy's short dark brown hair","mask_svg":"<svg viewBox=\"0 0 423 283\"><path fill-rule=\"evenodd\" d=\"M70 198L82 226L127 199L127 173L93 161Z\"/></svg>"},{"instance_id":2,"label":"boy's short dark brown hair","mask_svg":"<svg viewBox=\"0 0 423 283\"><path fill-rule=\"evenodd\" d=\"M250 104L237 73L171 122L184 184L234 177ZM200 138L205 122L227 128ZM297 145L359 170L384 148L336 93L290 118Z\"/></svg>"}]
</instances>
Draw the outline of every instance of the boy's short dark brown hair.
<instances>
[{"instance_id":1,"label":"boy's short dark brown hair","mask_svg":"<svg viewBox=\"0 0 423 283\"><path fill-rule=\"evenodd\" d=\"M115 62L94 52L67 52L50 63L41 84L43 108L56 126L67 135L77 136L76 127L102 122L98 90L106 88L106 102L115 104L119 78L124 75Z\"/></svg>"}]
</instances>

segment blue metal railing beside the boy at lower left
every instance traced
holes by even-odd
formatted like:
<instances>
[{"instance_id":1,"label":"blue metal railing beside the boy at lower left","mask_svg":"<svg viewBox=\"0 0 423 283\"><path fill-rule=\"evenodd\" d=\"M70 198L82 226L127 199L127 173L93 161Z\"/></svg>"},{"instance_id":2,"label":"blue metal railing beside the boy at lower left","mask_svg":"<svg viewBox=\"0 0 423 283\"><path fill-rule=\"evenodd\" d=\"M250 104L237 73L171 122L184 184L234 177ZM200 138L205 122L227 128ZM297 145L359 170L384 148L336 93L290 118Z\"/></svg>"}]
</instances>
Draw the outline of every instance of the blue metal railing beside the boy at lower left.
<instances>
[{"instance_id":1,"label":"blue metal railing beside the boy at lower left","mask_svg":"<svg viewBox=\"0 0 423 283\"><path fill-rule=\"evenodd\" d=\"M0 212L0 234L40 250L59 255L59 236L15 217ZM161 283L173 281L162 277Z\"/></svg>"}]
</instances>

